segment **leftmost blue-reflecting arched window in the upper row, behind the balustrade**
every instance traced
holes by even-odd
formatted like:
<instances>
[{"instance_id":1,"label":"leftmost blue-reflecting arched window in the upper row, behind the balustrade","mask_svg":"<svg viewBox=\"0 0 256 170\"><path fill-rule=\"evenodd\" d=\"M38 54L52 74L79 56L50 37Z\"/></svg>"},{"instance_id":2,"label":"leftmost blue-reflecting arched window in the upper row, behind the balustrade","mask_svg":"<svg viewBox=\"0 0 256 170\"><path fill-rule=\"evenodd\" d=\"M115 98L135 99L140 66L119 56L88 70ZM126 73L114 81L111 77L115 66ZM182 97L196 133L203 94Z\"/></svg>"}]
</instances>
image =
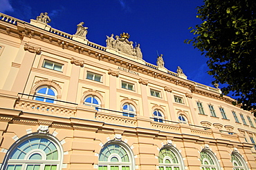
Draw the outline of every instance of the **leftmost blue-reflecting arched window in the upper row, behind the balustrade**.
<instances>
[{"instance_id":1,"label":"leftmost blue-reflecting arched window in the upper row, behind the balustrade","mask_svg":"<svg viewBox=\"0 0 256 170\"><path fill-rule=\"evenodd\" d=\"M41 86L37 89L34 100L47 102L47 103L55 103L56 98L57 98L57 91L53 87Z\"/></svg>"}]
</instances>

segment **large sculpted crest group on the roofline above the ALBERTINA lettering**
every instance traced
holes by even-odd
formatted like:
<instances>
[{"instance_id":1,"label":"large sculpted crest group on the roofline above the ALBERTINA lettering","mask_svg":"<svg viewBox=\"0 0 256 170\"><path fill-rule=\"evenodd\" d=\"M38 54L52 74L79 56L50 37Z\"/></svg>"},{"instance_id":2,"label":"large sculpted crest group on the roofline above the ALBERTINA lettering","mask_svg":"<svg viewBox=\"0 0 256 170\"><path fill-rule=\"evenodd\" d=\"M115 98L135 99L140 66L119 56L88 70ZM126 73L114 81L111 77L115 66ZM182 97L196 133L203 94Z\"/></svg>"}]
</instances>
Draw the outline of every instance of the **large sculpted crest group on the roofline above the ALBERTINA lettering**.
<instances>
[{"instance_id":1,"label":"large sculpted crest group on the roofline above the ALBERTINA lettering","mask_svg":"<svg viewBox=\"0 0 256 170\"><path fill-rule=\"evenodd\" d=\"M143 54L140 50L140 44L134 47L134 42L129 41L129 34L122 33L120 36L116 35L116 39L113 38L113 34L111 36L107 36L107 48L114 49L118 52L123 52L125 54L129 54L138 59L143 59Z\"/></svg>"}]
</instances>

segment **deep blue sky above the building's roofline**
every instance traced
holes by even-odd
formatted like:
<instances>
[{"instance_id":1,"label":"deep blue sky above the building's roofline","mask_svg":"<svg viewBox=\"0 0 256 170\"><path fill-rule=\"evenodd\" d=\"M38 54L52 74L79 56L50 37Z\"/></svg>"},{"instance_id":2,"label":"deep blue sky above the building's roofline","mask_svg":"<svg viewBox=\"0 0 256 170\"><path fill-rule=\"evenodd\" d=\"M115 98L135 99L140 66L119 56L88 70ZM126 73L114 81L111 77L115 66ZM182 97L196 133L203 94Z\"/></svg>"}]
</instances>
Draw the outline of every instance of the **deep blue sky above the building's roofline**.
<instances>
[{"instance_id":1,"label":"deep blue sky above the building's roofline","mask_svg":"<svg viewBox=\"0 0 256 170\"><path fill-rule=\"evenodd\" d=\"M207 59L192 45L188 28L201 23L196 7L203 0L0 0L0 12L29 22L48 12L52 28L75 34L84 21L87 39L106 46L106 35L130 34L129 41L140 43L143 59L156 65L156 51L163 54L165 67L176 72L177 66L191 81L211 85L206 72Z\"/></svg>"}]
</instances>

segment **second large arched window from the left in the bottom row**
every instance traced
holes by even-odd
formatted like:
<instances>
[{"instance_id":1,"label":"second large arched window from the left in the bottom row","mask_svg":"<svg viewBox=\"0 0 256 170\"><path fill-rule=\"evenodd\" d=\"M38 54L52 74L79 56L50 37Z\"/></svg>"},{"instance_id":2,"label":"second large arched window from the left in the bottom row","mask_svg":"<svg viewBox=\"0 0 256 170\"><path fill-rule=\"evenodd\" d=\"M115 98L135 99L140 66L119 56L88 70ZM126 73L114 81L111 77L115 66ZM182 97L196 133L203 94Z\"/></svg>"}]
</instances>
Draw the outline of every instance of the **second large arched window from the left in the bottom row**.
<instances>
[{"instance_id":1,"label":"second large arched window from the left in the bottom row","mask_svg":"<svg viewBox=\"0 0 256 170\"><path fill-rule=\"evenodd\" d=\"M99 156L99 170L131 170L134 169L134 158L131 151L119 142L105 145Z\"/></svg>"}]
</instances>

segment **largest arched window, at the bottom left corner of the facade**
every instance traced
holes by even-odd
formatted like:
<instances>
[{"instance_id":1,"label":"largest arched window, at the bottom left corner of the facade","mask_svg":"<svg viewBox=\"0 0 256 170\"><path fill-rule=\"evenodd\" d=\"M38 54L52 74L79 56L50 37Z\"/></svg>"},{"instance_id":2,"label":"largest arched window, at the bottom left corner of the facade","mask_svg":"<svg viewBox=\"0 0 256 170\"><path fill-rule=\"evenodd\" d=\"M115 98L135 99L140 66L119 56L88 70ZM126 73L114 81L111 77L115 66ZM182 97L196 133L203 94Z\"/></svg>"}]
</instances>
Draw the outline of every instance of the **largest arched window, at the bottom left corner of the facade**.
<instances>
[{"instance_id":1,"label":"largest arched window, at the bottom left corner of the facade","mask_svg":"<svg viewBox=\"0 0 256 170\"><path fill-rule=\"evenodd\" d=\"M3 163L7 170L62 169L62 148L47 135L28 136L12 145Z\"/></svg>"}]
</instances>

